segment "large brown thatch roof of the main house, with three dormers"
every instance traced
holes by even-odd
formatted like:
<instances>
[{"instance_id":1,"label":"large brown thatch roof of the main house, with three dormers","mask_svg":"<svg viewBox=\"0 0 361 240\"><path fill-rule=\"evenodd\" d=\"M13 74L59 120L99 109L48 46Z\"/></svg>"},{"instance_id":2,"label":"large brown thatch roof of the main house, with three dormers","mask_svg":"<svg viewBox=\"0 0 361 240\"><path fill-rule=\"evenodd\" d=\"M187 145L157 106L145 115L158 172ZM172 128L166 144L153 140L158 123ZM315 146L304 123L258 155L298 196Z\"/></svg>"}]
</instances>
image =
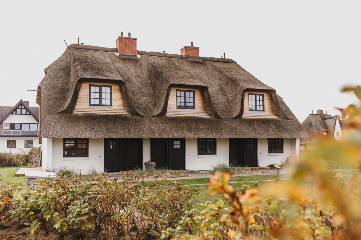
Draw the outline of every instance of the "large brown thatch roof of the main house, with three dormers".
<instances>
[{"instance_id":1,"label":"large brown thatch roof of the main house, with three dormers","mask_svg":"<svg viewBox=\"0 0 361 240\"><path fill-rule=\"evenodd\" d=\"M231 59L69 47L39 84L42 137L308 137L275 90ZM84 80L118 83L131 116L72 114ZM213 118L166 117L172 86L202 89ZM242 119L247 90L270 92L280 119Z\"/></svg>"}]
</instances>

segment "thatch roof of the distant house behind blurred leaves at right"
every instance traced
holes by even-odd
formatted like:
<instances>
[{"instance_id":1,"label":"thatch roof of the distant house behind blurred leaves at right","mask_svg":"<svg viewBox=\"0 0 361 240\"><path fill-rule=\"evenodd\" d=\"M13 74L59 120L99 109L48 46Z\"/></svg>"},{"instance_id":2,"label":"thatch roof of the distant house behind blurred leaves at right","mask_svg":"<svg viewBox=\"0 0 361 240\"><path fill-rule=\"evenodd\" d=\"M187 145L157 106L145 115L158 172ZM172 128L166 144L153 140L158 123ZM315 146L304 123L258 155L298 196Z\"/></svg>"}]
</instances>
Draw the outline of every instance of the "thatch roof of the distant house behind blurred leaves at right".
<instances>
[{"instance_id":1,"label":"thatch roof of the distant house behind blurred leaves at right","mask_svg":"<svg viewBox=\"0 0 361 240\"><path fill-rule=\"evenodd\" d=\"M331 116L325 114L321 116L319 114L310 114L301 124L305 128L306 132L310 136L309 138L300 139L300 143L316 143L324 140L330 140L334 138L336 119L340 117L338 115ZM323 132L327 132L327 135L323 135Z\"/></svg>"}]
</instances>

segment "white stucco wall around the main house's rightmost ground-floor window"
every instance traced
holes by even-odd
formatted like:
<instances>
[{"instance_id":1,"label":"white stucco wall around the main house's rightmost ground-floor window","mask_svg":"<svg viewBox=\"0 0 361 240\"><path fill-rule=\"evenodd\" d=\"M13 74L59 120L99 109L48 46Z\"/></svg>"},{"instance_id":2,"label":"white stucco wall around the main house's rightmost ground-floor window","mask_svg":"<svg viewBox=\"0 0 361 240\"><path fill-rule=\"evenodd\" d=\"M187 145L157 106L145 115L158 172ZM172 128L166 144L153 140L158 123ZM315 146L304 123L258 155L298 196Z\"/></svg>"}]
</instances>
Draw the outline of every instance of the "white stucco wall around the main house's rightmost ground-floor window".
<instances>
[{"instance_id":1,"label":"white stucco wall around the main house's rightmost ground-floor window","mask_svg":"<svg viewBox=\"0 0 361 240\"><path fill-rule=\"evenodd\" d=\"M280 164L287 159L299 157L299 139L283 139L283 153L268 153L268 139L258 140L258 166L266 167L271 163Z\"/></svg>"}]
</instances>

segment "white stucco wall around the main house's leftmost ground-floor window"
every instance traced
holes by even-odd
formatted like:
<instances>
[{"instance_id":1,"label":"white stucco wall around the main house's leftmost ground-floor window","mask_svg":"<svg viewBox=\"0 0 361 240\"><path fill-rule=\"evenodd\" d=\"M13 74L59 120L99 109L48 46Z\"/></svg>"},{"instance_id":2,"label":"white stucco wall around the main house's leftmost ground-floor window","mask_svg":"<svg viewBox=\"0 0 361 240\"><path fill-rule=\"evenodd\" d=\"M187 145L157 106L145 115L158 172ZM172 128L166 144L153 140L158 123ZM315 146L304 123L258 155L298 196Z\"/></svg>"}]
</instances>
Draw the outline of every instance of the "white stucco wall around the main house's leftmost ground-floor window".
<instances>
[{"instance_id":1,"label":"white stucco wall around the main house's leftmost ground-floor window","mask_svg":"<svg viewBox=\"0 0 361 240\"><path fill-rule=\"evenodd\" d=\"M81 174L86 174L91 167L104 171L104 139L102 138L90 138L89 139L89 157L83 158L63 158L63 139L62 138L53 138L51 141L49 139L45 140L47 144L44 144L43 139L43 158L47 157L43 161L44 164L47 164L48 168L59 168L64 167L74 167L75 170L81 172ZM51 147L49 146L51 145ZM49 156L51 153L51 156ZM50 160L51 159L51 160ZM43 164L43 165L44 165ZM45 166L43 166L44 168Z\"/></svg>"}]
</instances>

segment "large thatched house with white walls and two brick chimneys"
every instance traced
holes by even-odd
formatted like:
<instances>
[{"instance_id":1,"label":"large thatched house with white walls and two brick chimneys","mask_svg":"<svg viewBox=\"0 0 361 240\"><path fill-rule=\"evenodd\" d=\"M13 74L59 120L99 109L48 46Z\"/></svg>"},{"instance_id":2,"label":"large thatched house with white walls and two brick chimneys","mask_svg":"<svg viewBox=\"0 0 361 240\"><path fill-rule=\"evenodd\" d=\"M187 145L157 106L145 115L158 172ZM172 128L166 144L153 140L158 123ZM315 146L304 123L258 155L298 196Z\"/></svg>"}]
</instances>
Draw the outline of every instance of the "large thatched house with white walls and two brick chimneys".
<instances>
[{"instance_id":1,"label":"large thatched house with white walls and two brick chimneys","mask_svg":"<svg viewBox=\"0 0 361 240\"><path fill-rule=\"evenodd\" d=\"M72 44L38 86L42 167L119 172L153 160L171 169L267 166L308 137L276 91L234 60ZM187 55L186 55L187 54Z\"/></svg>"}]
</instances>

